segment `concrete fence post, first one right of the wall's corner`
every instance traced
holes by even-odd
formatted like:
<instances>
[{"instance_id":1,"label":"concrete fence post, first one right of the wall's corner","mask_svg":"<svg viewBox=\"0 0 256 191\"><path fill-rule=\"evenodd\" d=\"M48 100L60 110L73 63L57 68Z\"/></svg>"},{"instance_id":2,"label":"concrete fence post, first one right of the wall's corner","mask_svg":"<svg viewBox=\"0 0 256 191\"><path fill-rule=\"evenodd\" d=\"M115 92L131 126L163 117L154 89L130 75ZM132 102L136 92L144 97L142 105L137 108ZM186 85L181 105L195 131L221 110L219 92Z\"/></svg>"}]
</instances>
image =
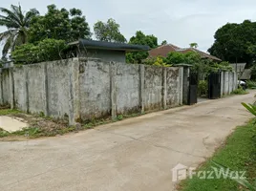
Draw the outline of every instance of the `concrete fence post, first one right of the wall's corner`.
<instances>
[{"instance_id":1,"label":"concrete fence post, first one right of the wall's corner","mask_svg":"<svg viewBox=\"0 0 256 191\"><path fill-rule=\"evenodd\" d=\"M110 96L111 96L111 116L117 118L117 65L110 62Z\"/></svg>"}]
</instances>

